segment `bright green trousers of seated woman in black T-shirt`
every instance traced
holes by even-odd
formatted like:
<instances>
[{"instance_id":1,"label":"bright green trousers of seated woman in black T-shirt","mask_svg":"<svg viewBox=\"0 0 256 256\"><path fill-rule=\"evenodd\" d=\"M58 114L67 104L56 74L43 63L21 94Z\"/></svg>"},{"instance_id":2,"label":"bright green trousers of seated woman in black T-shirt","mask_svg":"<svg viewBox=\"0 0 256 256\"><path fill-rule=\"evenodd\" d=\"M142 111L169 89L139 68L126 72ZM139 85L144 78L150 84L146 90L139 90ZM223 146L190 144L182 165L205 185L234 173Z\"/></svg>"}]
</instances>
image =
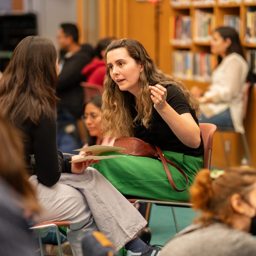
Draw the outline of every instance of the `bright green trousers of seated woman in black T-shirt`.
<instances>
[{"instance_id":1,"label":"bright green trousers of seated woman in black T-shirt","mask_svg":"<svg viewBox=\"0 0 256 256\"><path fill-rule=\"evenodd\" d=\"M113 152L101 155L113 154L125 155ZM163 154L186 172L189 186L193 183L196 173L203 167L203 156L187 156L171 151L163 151ZM101 160L92 167L97 169L123 195L165 201L189 201L188 189L183 192L175 191L167 178L162 162L157 159L125 155L125 157ZM186 180L182 174L172 165L168 164L168 167L176 187L185 188Z\"/></svg>"}]
</instances>

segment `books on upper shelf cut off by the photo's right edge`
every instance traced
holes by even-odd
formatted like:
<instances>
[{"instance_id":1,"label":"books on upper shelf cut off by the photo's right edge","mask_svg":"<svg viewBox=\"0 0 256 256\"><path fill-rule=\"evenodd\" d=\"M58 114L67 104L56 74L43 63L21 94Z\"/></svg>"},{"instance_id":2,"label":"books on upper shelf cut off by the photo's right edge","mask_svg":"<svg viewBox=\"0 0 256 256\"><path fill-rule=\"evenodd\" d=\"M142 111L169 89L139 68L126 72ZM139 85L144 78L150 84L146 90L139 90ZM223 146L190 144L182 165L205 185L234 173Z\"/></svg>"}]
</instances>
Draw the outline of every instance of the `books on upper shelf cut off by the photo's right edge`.
<instances>
[{"instance_id":1,"label":"books on upper shelf cut off by the photo's right edge","mask_svg":"<svg viewBox=\"0 0 256 256\"><path fill-rule=\"evenodd\" d=\"M256 10L248 8L245 16L245 38L244 41L249 44L256 44Z\"/></svg>"}]
</instances>

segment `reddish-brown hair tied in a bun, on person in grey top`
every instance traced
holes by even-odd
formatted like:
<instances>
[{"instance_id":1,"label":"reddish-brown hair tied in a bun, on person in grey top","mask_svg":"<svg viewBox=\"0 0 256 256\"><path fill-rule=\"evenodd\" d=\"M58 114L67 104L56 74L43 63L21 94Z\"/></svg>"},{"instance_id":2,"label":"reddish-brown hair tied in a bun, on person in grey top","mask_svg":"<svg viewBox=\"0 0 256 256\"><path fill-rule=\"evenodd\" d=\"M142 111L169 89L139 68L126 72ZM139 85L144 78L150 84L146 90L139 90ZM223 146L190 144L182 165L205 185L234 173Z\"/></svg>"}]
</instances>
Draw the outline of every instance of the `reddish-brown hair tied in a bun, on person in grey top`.
<instances>
[{"instance_id":1,"label":"reddish-brown hair tied in a bun, on person in grey top","mask_svg":"<svg viewBox=\"0 0 256 256\"><path fill-rule=\"evenodd\" d=\"M242 198L248 199L255 182L256 170L254 168L228 168L217 179L210 177L209 170L201 170L190 188L193 208L202 212L202 215L194 222L207 226L218 219L232 226L235 211L230 204L231 196L237 193Z\"/></svg>"}]
</instances>

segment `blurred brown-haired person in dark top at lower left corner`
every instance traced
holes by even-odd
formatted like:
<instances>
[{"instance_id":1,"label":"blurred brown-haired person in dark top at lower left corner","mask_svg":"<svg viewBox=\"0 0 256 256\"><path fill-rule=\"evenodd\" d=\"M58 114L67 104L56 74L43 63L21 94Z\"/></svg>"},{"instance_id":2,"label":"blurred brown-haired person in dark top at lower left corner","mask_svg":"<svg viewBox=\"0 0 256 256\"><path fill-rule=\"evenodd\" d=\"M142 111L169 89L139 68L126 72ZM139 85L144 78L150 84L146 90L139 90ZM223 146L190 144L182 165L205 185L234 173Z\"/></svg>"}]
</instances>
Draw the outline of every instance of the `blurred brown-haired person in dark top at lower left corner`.
<instances>
[{"instance_id":1,"label":"blurred brown-haired person in dark top at lower left corner","mask_svg":"<svg viewBox=\"0 0 256 256\"><path fill-rule=\"evenodd\" d=\"M1 116L0 141L0 255L35 256L28 222L40 206L28 181L22 141Z\"/></svg>"}]
</instances>

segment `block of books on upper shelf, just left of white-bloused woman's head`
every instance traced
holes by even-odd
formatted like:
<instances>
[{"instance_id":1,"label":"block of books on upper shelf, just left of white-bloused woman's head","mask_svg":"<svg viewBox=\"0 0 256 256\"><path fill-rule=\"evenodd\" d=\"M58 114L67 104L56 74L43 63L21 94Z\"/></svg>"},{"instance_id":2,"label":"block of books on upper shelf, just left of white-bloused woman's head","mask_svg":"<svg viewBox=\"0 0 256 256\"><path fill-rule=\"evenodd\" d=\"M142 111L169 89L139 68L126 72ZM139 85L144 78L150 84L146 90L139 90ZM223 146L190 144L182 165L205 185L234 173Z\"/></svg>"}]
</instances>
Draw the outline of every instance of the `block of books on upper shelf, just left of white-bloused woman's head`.
<instances>
[{"instance_id":1,"label":"block of books on upper shelf, just left of white-bloused woman's head","mask_svg":"<svg viewBox=\"0 0 256 256\"><path fill-rule=\"evenodd\" d=\"M209 42L215 27L215 17L212 12L195 10L195 36L196 42Z\"/></svg>"}]
</instances>

